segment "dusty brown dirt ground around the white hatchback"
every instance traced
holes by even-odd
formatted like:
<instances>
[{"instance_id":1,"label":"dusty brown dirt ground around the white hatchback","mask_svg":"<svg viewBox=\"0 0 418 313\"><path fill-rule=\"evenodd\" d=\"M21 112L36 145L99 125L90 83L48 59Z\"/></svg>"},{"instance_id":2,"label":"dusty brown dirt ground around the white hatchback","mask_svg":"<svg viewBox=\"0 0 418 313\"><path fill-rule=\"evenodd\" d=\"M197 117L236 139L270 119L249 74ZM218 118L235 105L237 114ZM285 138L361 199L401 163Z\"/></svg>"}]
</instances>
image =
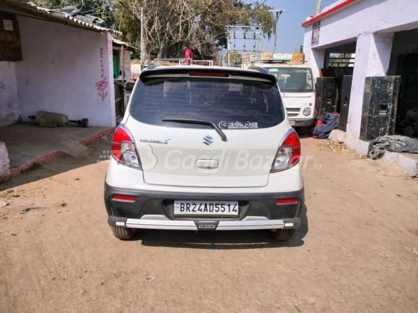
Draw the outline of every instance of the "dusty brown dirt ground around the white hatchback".
<instances>
[{"instance_id":1,"label":"dusty brown dirt ground around the white hatchback","mask_svg":"<svg viewBox=\"0 0 418 313\"><path fill-rule=\"evenodd\" d=\"M307 214L288 243L262 231L115 239L96 163L108 141L1 185L0 312L418 312L417 179L302 143Z\"/></svg>"}]
</instances>

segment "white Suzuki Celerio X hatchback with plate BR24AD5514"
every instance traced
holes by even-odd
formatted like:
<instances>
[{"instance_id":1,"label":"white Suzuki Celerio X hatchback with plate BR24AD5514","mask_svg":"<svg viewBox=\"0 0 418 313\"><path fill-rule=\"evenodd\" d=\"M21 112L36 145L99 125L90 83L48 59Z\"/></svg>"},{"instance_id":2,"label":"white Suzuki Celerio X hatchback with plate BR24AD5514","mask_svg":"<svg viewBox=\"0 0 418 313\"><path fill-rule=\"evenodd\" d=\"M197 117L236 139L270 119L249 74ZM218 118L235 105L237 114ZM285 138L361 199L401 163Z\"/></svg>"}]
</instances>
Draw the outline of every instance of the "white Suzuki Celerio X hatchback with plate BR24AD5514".
<instances>
[{"instance_id":1,"label":"white Suzuki Celerio X hatchback with plate BR24AD5514","mask_svg":"<svg viewBox=\"0 0 418 313\"><path fill-rule=\"evenodd\" d=\"M257 70L150 66L112 139L108 223L132 229L272 230L300 226L300 141L276 77Z\"/></svg>"}]
</instances>

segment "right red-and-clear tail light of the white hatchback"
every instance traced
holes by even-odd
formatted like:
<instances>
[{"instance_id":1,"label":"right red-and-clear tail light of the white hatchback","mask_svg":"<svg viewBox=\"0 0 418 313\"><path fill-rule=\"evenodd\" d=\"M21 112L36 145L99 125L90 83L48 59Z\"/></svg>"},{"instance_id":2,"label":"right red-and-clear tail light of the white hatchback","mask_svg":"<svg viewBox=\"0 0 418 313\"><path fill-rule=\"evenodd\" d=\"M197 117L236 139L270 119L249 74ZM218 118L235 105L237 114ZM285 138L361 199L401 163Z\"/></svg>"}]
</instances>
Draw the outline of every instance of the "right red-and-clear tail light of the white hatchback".
<instances>
[{"instance_id":1,"label":"right red-and-clear tail light of the white hatchback","mask_svg":"<svg viewBox=\"0 0 418 313\"><path fill-rule=\"evenodd\" d=\"M300 141L294 129L288 132L283 143L281 143L279 150L277 150L276 157L270 172L279 172L280 170L287 170L293 168L300 160Z\"/></svg>"}]
</instances>

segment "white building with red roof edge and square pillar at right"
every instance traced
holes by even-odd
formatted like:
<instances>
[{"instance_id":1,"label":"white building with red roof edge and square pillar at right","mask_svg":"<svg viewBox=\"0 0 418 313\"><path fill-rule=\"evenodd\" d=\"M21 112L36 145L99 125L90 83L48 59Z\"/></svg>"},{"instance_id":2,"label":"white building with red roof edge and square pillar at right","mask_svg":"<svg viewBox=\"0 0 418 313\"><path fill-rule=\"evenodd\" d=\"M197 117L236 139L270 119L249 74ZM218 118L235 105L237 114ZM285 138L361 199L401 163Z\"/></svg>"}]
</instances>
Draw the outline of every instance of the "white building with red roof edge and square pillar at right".
<instances>
[{"instance_id":1,"label":"white building with red roof edge and square pillar at right","mask_svg":"<svg viewBox=\"0 0 418 313\"><path fill-rule=\"evenodd\" d=\"M340 0L302 24L306 60L320 76L330 54L354 54L348 134L359 138L366 77L401 76L397 104L418 105L418 0Z\"/></svg>"}]
</instances>

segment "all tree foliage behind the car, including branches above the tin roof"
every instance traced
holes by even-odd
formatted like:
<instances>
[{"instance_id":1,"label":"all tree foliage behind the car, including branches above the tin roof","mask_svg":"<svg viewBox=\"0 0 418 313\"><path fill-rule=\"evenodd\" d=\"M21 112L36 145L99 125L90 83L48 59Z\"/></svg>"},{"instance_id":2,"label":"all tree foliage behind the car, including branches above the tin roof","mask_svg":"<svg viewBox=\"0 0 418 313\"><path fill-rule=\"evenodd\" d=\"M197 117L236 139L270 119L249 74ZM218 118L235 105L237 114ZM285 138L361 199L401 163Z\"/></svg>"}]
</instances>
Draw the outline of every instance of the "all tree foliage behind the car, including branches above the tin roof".
<instances>
[{"instance_id":1,"label":"all tree foliage behind the car, including branches above the tin roof","mask_svg":"<svg viewBox=\"0 0 418 313\"><path fill-rule=\"evenodd\" d=\"M75 6L94 14L107 26L123 33L122 40L140 47L141 24L144 25L146 58L183 57L184 44L194 58L217 61L219 50L227 45L226 25L258 25L263 34L274 32L275 21L263 3L245 0L37 0L39 6L63 8ZM141 20L144 7L144 21Z\"/></svg>"}]
</instances>

